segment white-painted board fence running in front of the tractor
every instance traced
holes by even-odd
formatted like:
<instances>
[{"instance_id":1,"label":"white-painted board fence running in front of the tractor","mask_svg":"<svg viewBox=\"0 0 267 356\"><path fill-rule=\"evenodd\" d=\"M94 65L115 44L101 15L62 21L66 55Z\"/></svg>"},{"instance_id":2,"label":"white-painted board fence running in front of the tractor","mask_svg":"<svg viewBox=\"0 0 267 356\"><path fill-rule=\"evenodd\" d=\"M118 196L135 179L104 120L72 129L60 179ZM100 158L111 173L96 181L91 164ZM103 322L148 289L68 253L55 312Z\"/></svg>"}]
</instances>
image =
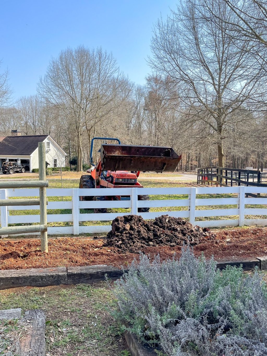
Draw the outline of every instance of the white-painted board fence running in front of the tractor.
<instances>
[{"instance_id":1,"label":"white-painted board fence running in front of the tractor","mask_svg":"<svg viewBox=\"0 0 267 356\"><path fill-rule=\"evenodd\" d=\"M256 190L255 190L256 189ZM129 195L130 200L121 201L79 201L79 196L112 196ZM229 198L227 195L235 193L235 197ZM127 214L141 215L144 219L155 219L157 216L168 214L177 218L188 218L190 223L201 227L223 227L223 226L243 226L243 225L267 225L267 219L257 219L257 215L267 215L267 208L245 208L246 204L264 205L267 204L267 198L246 198L245 193L267 194L267 188L258 187L199 187L199 188L116 188L116 189L80 189L63 188L47 189L47 197L58 197L58 201L49 201L47 209L71 209L71 214L47 214L47 222L53 223L68 222L70 226L49 226L49 235L84 233L106 233L110 231L110 225L94 224L84 226L84 221L111 221L116 216ZM0 199L13 197L37 197L38 189L0 189ZM211 198L199 198L198 194L211 195ZM222 194L225 197L214 198L214 194ZM156 200L138 200L138 195L187 195L186 199L156 199ZM70 197L69 201L62 201L62 197ZM235 208L205 209L198 210L198 206L214 205L234 205ZM157 211L149 213L138 213L138 208L150 207L183 207L179 211ZM94 208L130 208L129 213L86 213L82 214L80 209ZM40 215L10 215L10 210L37 210L39 206L1 206L1 226L8 224L38 223ZM231 219L231 216L237 215L239 219ZM245 219L245 215L255 215L255 219ZM204 220L209 216L224 216L226 220ZM196 221L196 218L200 218ZM56 224L55 224L56 225ZM34 234L36 235L36 234Z\"/></svg>"}]
</instances>

